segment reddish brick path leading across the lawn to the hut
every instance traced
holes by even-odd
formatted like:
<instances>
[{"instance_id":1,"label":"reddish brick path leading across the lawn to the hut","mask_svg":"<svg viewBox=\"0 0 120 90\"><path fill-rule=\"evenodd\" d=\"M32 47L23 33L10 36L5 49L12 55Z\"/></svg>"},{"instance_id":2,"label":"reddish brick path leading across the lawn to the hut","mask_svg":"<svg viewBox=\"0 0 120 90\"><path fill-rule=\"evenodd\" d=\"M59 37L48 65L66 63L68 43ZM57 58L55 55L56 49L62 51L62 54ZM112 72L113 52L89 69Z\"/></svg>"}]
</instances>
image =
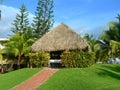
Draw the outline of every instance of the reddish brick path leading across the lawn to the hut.
<instances>
[{"instance_id":1,"label":"reddish brick path leading across the lawn to the hut","mask_svg":"<svg viewBox=\"0 0 120 90\"><path fill-rule=\"evenodd\" d=\"M30 79L14 87L12 90L35 90L57 71L58 69L45 68Z\"/></svg>"}]
</instances>

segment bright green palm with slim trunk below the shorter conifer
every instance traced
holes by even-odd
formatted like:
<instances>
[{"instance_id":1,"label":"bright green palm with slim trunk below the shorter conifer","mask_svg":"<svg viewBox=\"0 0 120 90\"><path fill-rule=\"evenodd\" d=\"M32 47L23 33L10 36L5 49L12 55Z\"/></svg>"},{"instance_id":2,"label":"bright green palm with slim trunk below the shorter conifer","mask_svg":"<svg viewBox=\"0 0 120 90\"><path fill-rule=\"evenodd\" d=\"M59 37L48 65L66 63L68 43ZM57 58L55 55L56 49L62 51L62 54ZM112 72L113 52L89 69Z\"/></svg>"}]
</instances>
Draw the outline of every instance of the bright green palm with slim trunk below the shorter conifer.
<instances>
[{"instance_id":1,"label":"bright green palm with slim trunk below the shorter conifer","mask_svg":"<svg viewBox=\"0 0 120 90\"><path fill-rule=\"evenodd\" d=\"M24 35L15 34L6 43L6 53L17 57L17 65L20 68L20 62L23 55L28 55L30 52L30 45L33 39L24 39Z\"/></svg>"}]
</instances>

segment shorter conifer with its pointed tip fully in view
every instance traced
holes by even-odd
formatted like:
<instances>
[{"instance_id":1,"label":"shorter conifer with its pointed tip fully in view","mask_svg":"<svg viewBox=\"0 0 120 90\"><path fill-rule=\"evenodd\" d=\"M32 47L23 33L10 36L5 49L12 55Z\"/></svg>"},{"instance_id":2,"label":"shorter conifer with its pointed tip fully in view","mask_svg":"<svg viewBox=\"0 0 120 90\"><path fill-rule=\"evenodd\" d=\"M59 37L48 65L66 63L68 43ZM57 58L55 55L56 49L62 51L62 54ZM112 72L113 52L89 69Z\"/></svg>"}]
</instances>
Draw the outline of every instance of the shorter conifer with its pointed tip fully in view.
<instances>
[{"instance_id":1,"label":"shorter conifer with its pointed tip fully in view","mask_svg":"<svg viewBox=\"0 0 120 90\"><path fill-rule=\"evenodd\" d=\"M26 29L29 27L29 20L28 20L28 12L23 4L20 7L19 14L16 15L16 19L14 20L12 32L13 33L19 33L20 35L24 34L26 32Z\"/></svg>"}]
</instances>

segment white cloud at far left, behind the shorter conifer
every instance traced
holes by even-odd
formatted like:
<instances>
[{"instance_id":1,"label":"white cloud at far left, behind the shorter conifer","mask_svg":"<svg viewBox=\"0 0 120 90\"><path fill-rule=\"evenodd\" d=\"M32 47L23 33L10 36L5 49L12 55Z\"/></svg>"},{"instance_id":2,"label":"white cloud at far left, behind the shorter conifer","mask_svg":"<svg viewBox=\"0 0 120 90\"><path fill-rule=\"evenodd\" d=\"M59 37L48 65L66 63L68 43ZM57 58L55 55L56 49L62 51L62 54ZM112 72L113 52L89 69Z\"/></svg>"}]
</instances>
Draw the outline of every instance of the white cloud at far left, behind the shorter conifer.
<instances>
[{"instance_id":1,"label":"white cloud at far left, behind the shorter conifer","mask_svg":"<svg viewBox=\"0 0 120 90\"><path fill-rule=\"evenodd\" d=\"M5 5L0 5L1 9L1 21L0 21L0 37L6 38L12 32L10 31L12 27L12 22L15 20L16 14L19 13L19 9L8 7ZM30 23L33 20L33 14L29 13L29 21Z\"/></svg>"}]
</instances>

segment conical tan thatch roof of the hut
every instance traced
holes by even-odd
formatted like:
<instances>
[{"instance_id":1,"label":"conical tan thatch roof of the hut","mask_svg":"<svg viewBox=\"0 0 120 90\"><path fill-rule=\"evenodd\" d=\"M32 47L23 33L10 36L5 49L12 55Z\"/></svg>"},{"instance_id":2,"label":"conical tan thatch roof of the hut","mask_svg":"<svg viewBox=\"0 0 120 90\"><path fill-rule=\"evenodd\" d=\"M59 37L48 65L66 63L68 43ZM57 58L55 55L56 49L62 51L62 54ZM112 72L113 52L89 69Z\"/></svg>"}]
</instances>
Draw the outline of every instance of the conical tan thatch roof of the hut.
<instances>
[{"instance_id":1,"label":"conical tan thatch roof of the hut","mask_svg":"<svg viewBox=\"0 0 120 90\"><path fill-rule=\"evenodd\" d=\"M86 48L88 48L87 42L64 23L46 33L31 46L33 52L82 50Z\"/></svg>"}]
</instances>

